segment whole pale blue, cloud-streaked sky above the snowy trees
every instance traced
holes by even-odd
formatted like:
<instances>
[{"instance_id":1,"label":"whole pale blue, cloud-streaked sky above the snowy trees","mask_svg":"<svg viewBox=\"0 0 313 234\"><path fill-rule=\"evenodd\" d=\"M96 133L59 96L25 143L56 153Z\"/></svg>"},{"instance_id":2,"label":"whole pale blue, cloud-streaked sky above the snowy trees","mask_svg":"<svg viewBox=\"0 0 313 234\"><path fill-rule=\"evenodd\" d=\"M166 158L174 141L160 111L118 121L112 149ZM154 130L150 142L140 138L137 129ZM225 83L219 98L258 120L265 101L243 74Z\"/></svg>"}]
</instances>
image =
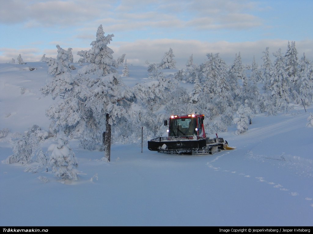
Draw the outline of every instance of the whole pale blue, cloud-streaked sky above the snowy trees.
<instances>
[{"instance_id":1,"label":"whole pale blue, cloud-streaked sky above the snowy trees","mask_svg":"<svg viewBox=\"0 0 313 234\"><path fill-rule=\"evenodd\" d=\"M0 63L40 61L56 57L56 45L89 50L101 24L113 34L109 47L115 59L126 54L128 63L159 63L172 48L178 68L192 55L195 63L207 53L220 53L227 64L236 54L244 64L253 57L261 65L263 51L285 53L295 41L299 59L313 60L313 1L43 1L0 0ZM273 57L274 59L274 57Z\"/></svg>"}]
</instances>

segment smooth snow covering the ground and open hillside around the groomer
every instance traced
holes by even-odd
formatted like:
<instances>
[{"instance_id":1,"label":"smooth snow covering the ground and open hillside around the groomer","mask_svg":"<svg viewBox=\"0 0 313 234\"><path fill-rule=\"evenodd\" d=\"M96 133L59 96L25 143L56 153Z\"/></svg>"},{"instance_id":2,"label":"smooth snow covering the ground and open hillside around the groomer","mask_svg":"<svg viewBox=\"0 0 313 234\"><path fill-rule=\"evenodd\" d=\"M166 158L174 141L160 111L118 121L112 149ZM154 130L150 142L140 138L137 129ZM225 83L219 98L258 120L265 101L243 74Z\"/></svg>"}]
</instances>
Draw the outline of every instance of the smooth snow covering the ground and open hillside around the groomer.
<instances>
[{"instance_id":1,"label":"smooth snow covering the ground and open hillside around the groomer","mask_svg":"<svg viewBox=\"0 0 313 234\"><path fill-rule=\"evenodd\" d=\"M105 162L104 152L71 140L80 173L61 181L51 169L25 172L35 163L5 163L14 132L49 130L45 111L55 101L39 91L47 70L44 62L0 64L0 226L312 225L313 106L256 115L238 135L233 124L218 137L236 149L213 155L112 144ZM129 65L129 75L122 79L135 85L147 67ZM44 141L43 151L54 143Z\"/></svg>"}]
</instances>

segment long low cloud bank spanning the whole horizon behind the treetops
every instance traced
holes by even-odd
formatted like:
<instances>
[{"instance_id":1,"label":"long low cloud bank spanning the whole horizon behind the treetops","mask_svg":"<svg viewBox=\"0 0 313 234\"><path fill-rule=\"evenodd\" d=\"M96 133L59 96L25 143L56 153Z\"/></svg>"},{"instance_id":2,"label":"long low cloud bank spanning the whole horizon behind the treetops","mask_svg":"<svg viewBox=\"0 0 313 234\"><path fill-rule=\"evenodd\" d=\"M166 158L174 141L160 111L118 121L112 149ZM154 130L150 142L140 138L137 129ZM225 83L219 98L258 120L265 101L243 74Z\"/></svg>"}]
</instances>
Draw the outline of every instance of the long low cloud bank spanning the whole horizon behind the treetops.
<instances>
[{"instance_id":1,"label":"long low cloud bank spanning the whole horizon behind the treetops","mask_svg":"<svg viewBox=\"0 0 313 234\"><path fill-rule=\"evenodd\" d=\"M94 40L94 39L93 39ZM91 42L91 41L90 41ZM68 47L73 48L72 53L74 61L78 61L80 56L77 55L78 51L89 50L90 42L85 47L73 47L63 46L62 48L67 49ZM54 43L58 44L57 41ZM312 40L296 41L296 49L298 51L298 59L305 53L306 58L313 60L313 49L311 45ZM44 49L39 50L38 48L29 49L6 49L0 48L0 63L6 63L11 61L12 58L16 59L18 54L22 55L24 61L40 61L43 54L46 57L56 58L57 49ZM260 66L262 61L263 51L266 47L269 47L270 57L274 62L275 57L272 55L279 48L283 54L287 50L287 40L260 40L260 41L244 41L244 42L228 42L228 41L217 41L217 42L203 42L199 40L177 40L177 39L159 39L159 40L136 40L134 42L115 42L113 41L108 45L114 51L114 58L122 54L126 54L128 63L133 65L145 65L145 62L159 63L165 52L172 48L177 61L178 68L185 68L188 58L193 55L193 61L196 64L201 64L207 60L206 54L208 53L219 53L220 57L228 64L231 65L235 59L235 55L240 52L243 64L251 64L253 56Z\"/></svg>"}]
</instances>

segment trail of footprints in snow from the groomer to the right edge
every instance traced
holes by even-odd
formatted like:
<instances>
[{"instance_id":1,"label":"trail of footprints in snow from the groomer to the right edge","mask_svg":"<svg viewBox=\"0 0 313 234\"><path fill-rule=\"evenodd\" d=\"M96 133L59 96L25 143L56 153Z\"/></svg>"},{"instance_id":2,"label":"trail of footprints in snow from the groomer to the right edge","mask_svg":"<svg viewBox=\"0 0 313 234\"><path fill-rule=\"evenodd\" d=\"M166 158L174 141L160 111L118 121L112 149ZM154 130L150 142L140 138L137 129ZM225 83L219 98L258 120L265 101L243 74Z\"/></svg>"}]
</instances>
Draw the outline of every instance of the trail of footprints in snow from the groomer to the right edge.
<instances>
[{"instance_id":1,"label":"trail of footprints in snow from the groomer to the right edge","mask_svg":"<svg viewBox=\"0 0 313 234\"><path fill-rule=\"evenodd\" d=\"M225 156L226 154L230 154L230 152L225 152L225 153L217 155L212 161L206 163L206 165L209 168L213 169L214 171L228 172L231 174L238 174L239 176L243 176L245 178L251 178L250 175L246 175L245 173L237 173L237 171L222 170L222 168L220 168L220 167L214 167L213 163L216 162L219 158ZM258 182L267 183L267 184L271 185L274 189L279 188L281 191L287 191L291 196L298 196L299 195L299 193L297 193L297 192L289 192L290 189L284 188L284 186L281 185L280 183L266 181L266 179L264 177L255 177L255 179ZM310 201L310 202L313 200L313 198L310 198L310 197L305 197L304 199L307 201ZM313 203L310 204L310 207L313 207Z\"/></svg>"}]
</instances>

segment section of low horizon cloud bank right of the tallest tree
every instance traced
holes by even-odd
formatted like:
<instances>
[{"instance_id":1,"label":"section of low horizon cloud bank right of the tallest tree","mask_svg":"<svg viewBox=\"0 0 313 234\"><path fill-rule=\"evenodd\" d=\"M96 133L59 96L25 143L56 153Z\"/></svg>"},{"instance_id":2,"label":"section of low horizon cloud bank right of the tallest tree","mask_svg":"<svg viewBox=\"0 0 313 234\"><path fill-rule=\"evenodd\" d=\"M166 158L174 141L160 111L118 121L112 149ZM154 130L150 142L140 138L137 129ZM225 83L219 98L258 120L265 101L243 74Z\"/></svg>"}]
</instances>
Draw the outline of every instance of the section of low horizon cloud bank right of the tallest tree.
<instances>
[{"instance_id":1,"label":"section of low horizon cloud bank right of the tallest tree","mask_svg":"<svg viewBox=\"0 0 313 234\"><path fill-rule=\"evenodd\" d=\"M313 41L296 41L298 58L300 59L303 52L310 54L306 56L312 59L312 50L310 48ZM281 48L282 53L287 50L288 41L286 40L260 40L260 41L244 41L244 42L203 42L198 40L138 40L127 43L112 43L110 46L115 51L114 56L126 54L127 61L134 65L143 65L145 61L149 63L159 63L162 60L164 52L172 48L177 61L177 66L184 68L188 58L193 55L193 61L201 64L206 61L208 53L219 53L220 57L231 65L235 59L235 55L240 52L242 62L244 64L252 64L253 56L259 66L263 63L262 56L266 47L269 47L270 55ZM273 62L273 61L272 61Z\"/></svg>"}]
</instances>

